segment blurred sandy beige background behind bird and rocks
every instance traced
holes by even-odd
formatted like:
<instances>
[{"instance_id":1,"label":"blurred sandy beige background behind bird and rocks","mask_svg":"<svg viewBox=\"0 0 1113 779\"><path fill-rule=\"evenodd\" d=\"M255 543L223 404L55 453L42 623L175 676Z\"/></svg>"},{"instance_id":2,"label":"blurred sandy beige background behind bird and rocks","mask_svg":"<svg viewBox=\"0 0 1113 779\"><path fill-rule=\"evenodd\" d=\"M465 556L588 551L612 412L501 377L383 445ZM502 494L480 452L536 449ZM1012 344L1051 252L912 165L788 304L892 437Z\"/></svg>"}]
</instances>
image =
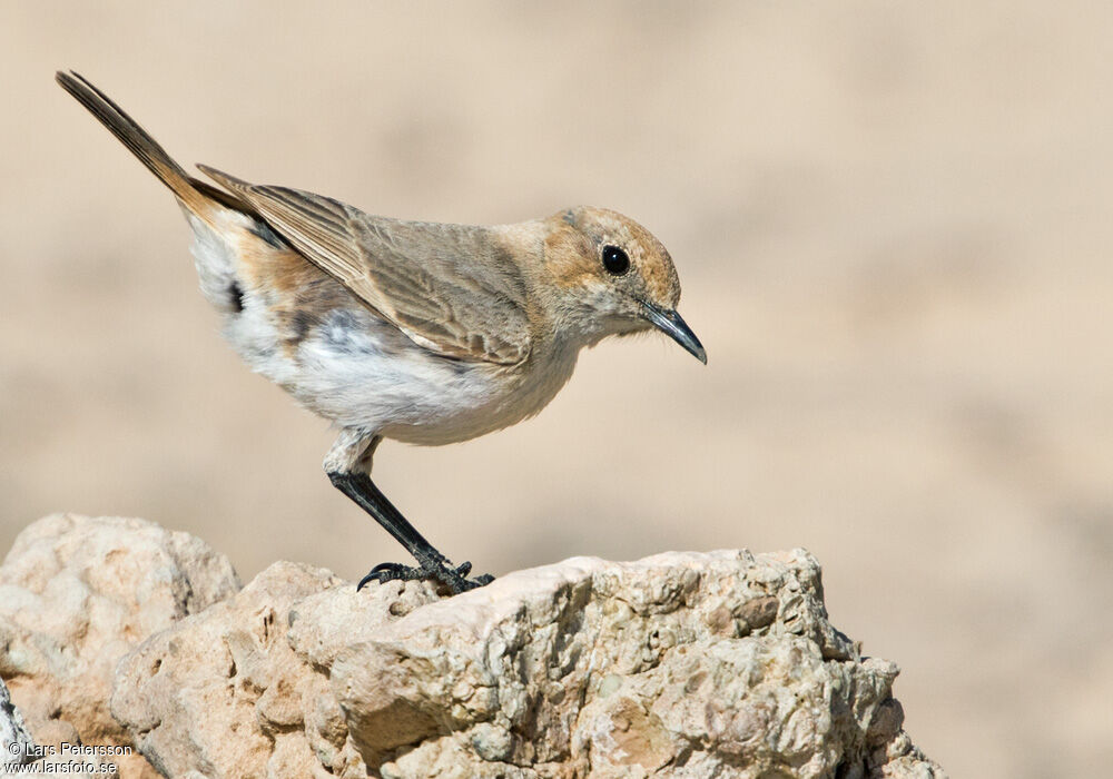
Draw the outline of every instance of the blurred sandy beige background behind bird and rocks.
<instances>
[{"instance_id":1,"label":"blurred sandy beige background behind bird and rocks","mask_svg":"<svg viewBox=\"0 0 1113 779\"><path fill-rule=\"evenodd\" d=\"M384 445L477 570L802 545L956 777L1113 762L1107 3L8 2L0 550L57 510L196 533L245 579L401 549L325 423L252 375L170 196L51 81L184 164L366 210L608 205L668 245L701 367L604 343L535 421Z\"/></svg>"}]
</instances>

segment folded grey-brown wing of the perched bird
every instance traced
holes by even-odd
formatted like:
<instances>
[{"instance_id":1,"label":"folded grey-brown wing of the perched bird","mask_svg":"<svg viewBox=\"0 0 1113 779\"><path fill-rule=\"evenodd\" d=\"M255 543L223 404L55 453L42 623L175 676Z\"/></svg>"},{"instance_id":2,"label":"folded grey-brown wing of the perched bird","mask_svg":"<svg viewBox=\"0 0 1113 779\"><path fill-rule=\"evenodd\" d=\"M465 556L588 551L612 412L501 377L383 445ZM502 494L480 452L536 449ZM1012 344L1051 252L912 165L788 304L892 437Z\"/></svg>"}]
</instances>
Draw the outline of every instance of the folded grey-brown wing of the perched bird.
<instances>
[{"instance_id":1,"label":"folded grey-brown wing of the perched bird","mask_svg":"<svg viewBox=\"0 0 1113 779\"><path fill-rule=\"evenodd\" d=\"M525 284L490 229L370 216L321 195L197 167L414 343L501 365L529 355Z\"/></svg>"}]
</instances>

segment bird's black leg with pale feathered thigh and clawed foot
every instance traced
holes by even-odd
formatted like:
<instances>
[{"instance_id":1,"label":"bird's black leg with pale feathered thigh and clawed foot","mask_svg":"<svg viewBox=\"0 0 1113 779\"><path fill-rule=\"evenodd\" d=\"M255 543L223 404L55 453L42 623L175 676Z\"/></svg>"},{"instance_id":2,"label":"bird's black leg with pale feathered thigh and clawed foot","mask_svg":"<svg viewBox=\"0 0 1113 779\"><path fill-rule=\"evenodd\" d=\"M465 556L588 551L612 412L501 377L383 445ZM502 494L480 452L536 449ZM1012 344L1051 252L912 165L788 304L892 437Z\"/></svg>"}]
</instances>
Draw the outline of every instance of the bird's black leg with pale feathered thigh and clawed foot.
<instances>
[{"instance_id":1,"label":"bird's black leg with pale feathered thigh and clawed foot","mask_svg":"<svg viewBox=\"0 0 1113 779\"><path fill-rule=\"evenodd\" d=\"M394 579L404 581L414 579L436 579L446 584L457 594L466 590L483 586L493 580L490 574L467 579L472 570L471 563L449 568L449 559L441 554L421 533L417 532L402 513L394 507L386 495L371 481L371 458L378 445L380 438L370 440L356 432L345 431L333 445L325 458L325 471L333 484L345 495L355 501L378 524L383 525L394 539L406 548L417 566L398 563L382 563L359 581L357 589L372 581L387 582Z\"/></svg>"}]
</instances>

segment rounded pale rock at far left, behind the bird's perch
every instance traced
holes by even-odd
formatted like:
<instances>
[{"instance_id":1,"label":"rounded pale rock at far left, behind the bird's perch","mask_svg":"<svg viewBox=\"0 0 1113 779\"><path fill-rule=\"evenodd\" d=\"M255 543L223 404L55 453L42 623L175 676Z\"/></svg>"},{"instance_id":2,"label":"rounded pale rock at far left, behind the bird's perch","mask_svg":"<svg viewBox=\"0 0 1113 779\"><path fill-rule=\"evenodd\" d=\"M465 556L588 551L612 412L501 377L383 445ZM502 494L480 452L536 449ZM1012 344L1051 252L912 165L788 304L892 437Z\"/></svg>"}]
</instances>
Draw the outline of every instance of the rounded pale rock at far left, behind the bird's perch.
<instances>
[{"instance_id":1,"label":"rounded pale rock at far left, behind the bird's perch","mask_svg":"<svg viewBox=\"0 0 1113 779\"><path fill-rule=\"evenodd\" d=\"M40 746L131 746L108 699L148 635L239 590L227 558L145 520L55 514L0 565L0 678ZM154 776L141 757L112 758Z\"/></svg>"}]
</instances>

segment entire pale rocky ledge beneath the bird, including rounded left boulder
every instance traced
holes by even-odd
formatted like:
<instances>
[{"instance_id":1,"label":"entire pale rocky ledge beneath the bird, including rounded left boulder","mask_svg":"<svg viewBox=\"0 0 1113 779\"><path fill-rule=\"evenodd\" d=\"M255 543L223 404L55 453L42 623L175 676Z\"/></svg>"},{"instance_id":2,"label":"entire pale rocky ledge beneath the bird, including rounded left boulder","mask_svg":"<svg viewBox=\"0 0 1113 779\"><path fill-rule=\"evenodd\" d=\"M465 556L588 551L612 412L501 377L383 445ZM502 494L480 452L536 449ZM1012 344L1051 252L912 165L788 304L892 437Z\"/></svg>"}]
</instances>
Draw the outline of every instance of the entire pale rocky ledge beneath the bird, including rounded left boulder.
<instances>
[{"instance_id":1,"label":"entire pale rocky ledge beneath the bird, including rounded left boulder","mask_svg":"<svg viewBox=\"0 0 1113 779\"><path fill-rule=\"evenodd\" d=\"M450 599L289 562L240 588L190 535L60 514L0 566L6 759L108 747L129 777L943 777L896 676L802 550L574 558Z\"/></svg>"}]
</instances>

